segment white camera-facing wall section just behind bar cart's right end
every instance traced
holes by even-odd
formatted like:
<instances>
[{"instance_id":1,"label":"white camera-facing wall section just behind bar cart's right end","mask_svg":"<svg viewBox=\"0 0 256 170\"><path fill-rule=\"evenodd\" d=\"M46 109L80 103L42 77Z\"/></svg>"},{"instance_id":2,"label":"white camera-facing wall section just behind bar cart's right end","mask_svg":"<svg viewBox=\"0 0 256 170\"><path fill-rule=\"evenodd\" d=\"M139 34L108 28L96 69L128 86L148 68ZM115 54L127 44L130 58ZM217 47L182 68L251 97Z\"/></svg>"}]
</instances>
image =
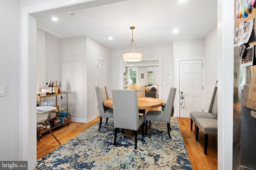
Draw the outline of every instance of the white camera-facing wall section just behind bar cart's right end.
<instances>
[{"instance_id":1,"label":"white camera-facing wall section just behind bar cart's right end","mask_svg":"<svg viewBox=\"0 0 256 170\"><path fill-rule=\"evenodd\" d=\"M60 40L61 91L68 94L68 111L73 121L86 122L86 37Z\"/></svg>"}]
</instances>

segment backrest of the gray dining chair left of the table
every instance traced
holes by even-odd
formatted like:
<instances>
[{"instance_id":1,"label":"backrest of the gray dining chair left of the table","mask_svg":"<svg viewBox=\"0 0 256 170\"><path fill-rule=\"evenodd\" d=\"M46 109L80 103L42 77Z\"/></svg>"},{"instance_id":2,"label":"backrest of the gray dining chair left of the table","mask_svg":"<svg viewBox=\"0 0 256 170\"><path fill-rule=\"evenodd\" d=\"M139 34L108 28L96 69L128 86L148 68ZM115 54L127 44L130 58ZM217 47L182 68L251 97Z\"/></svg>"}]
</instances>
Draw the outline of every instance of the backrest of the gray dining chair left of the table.
<instances>
[{"instance_id":1,"label":"backrest of the gray dining chair left of the table","mask_svg":"<svg viewBox=\"0 0 256 170\"><path fill-rule=\"evenodd\" d=\"M100 117L105 117L105 110L108 109L108 107L103 105L103 101L108 99L107 87L98 86L98 87L95 87L95 90L96 90L96 97L98 101L99 115Z\"/></svg>"}]
</instances>

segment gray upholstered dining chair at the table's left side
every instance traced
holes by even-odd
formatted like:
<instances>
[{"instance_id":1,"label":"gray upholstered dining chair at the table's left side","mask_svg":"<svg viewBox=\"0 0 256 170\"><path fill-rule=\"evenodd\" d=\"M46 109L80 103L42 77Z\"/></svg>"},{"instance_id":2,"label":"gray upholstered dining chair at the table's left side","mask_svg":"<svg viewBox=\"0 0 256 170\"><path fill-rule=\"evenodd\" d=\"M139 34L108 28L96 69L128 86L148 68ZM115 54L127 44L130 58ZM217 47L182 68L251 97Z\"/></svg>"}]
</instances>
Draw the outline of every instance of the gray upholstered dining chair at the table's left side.
<instances>
[{"instance_id":1,"label":"gray upholstered dining chair at the table's left side","mask_svg":"<svg viewBox=\"0 0 256 170\"><path fill-rule=\"evenodd\" d=\"M103 101L108 99L107 86L95 87L96 96L98 101L99 115L100 115L100 127L102 124L102 117L106 117L106 124L108 123L108 118L114 118L113 109L103 105ZM100 127L98 130L100 130Z\"/></svg>"}]
</instances>

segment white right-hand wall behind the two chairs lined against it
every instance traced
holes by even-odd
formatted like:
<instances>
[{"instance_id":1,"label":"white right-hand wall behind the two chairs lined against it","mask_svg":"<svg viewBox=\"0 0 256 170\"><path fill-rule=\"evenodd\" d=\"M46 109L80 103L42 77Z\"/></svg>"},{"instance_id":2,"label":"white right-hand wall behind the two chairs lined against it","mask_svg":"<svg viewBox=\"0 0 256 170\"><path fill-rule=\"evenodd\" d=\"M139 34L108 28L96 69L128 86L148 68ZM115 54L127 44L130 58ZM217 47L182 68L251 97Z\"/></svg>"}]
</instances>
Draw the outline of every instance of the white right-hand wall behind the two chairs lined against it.
<instances>
[{"instance_id":1,"label":"white right-hand wall behind the two chairs lined against it","mask_svg":"<svg viewBox=\"0 0 256 170\"><path fill-rule=\"evenodd\" d=\"M205 37L205 110L208 111L212 92L218 79L217 26ZM218 84L217 84L218 85Z\"/></svg>"}]
</instances>

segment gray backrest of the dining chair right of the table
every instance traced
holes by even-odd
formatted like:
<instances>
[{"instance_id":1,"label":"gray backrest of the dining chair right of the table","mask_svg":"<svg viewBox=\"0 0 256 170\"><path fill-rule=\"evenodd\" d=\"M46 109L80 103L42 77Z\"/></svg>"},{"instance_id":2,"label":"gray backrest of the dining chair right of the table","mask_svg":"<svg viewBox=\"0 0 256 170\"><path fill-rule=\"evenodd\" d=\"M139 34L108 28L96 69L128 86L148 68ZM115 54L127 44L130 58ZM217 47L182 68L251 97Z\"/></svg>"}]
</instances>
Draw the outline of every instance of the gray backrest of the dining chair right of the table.
<instances>
[{"instance_id":1,"label":"gray backrest of the dining chair right of the table","mask_svg":"<svg viewBox=\"0 0 256 170\"><path fill-rule=\"evenodd\" d=\"M176 94L176 88L171 87L168 94L166 106L164 109L164 114L162 117L162 121L164 122L170 123L175 94Z\"/></svg>"}]
</instances>

